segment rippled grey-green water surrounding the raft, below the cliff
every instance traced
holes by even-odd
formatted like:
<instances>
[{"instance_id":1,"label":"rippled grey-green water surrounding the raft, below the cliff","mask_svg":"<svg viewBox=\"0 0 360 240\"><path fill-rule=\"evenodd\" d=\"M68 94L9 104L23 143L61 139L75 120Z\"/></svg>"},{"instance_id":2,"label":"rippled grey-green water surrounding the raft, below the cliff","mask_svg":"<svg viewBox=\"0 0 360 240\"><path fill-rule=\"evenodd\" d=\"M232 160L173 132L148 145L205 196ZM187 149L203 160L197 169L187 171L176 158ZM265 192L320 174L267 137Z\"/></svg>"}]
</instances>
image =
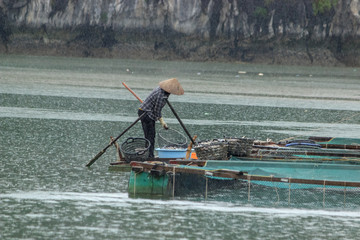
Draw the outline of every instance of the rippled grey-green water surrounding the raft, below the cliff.
<instances>
[{"instance_id":1,"label":"rippled grey-green water surrounding the raft, below the cliff","mask_svg":"<svg viewBox=\"0 0 360 240\"><path fill-rule=\"evenodd\" d=\"M356 239L360 208L129 198L114 148L158 81L191 135L360 137L360 69L0 56L0 239ZM181 130L168 107L163 115ZM140 125L126 133L142 136Z\"/></svg>"}]
</instances>

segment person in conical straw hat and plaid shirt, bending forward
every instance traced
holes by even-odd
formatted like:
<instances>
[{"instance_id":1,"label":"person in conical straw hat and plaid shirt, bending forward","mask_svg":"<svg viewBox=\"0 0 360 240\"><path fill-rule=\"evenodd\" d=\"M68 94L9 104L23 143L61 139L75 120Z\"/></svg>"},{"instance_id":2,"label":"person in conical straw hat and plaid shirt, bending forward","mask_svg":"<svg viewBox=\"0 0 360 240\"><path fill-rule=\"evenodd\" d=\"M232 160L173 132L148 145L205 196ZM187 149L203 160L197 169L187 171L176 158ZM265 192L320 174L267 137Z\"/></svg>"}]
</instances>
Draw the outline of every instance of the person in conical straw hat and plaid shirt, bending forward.
<instances>
[{"instance_id":1,"label":"person in conical straw hat and plaid shirt, bending forward","mask_svg":"<svg viewBox=\"0 0 360 240\"><path fill-rule=\"evenodd\" d=\"M143 101L139 107L138 115L141 116L144 112L146 114L141 119L141 125L144 131L144 136L150 141L149 158L154 157L155 147L155 122L160 121L161 126L168 129L167 124L161 116L161 110L166 104L165 98L168 98L170 94L183 95L184 89L176 78L171 78L165 81L159 82L159 86L156 87L150 95Z\"/></svg>"}]
</instances>

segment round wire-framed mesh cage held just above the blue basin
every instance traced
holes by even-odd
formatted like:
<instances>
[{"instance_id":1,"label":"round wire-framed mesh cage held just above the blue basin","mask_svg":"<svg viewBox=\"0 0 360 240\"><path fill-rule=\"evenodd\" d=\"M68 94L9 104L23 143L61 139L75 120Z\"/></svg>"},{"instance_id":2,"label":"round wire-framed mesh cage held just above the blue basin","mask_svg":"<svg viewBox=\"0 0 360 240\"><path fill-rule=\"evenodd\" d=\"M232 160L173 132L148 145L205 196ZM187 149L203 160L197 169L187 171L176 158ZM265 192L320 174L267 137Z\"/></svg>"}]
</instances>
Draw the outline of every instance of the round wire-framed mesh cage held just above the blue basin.
<instances>
[{"instance_id":1,"label":"round wire-framed mesh cage held just above the blue basin","mask_svg":"<svg viewBox=\"0 0 360 240\"><path fill-rule=\"evenodd\" d=\"M162 149L186 149L188 146L187 138L176 129L160 129L157 133L157 143Z\"/></svg>"}]
</instances>

